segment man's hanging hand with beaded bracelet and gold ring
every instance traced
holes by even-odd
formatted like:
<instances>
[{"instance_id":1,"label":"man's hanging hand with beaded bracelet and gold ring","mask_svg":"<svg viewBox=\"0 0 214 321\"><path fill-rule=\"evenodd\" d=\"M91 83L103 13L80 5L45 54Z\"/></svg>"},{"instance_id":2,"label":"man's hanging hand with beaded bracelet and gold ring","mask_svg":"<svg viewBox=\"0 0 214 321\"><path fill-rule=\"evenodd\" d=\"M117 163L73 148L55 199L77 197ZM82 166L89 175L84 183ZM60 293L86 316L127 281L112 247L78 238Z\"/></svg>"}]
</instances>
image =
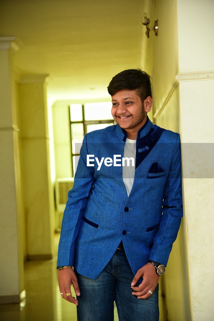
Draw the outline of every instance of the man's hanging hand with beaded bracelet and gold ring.
<instances>
[{"instance_id":1,"label":"man's hanging hand with beaded bracelet and gold ring","mask_svg":"<svg viewBox=\"0 0 214 321\"><path fill-rule=\"evenodd\" d=\"M63 299L78 305L78 300L72 297L71 293L71 284L73 284L76 295L80 295L76 274L71 267L66 267L58 271L58 284L60 292L63 293ZM71 294L67 297L66 293Z\"/></svg>"}]
</instances>

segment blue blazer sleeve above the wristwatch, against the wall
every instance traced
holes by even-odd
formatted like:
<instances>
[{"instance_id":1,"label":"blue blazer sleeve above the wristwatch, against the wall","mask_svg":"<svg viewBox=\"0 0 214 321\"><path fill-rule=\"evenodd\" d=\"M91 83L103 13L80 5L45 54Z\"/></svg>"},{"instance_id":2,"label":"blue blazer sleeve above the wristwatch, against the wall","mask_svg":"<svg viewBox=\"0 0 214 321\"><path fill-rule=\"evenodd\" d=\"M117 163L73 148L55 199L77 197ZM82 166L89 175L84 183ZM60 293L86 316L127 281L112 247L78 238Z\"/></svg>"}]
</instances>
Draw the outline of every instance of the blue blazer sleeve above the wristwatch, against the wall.
<instances>
[{"instance_id":1,"label":"blue blazer sleeve above the wristwatch, against the wall","mask_svg":"<svg viewBox=\"0 0 214 321\"><path fill-rule=\"evenodd\" d=\"M166 180L162 203L162 218L153 241L149 260L166 266L183 216L182 173L181 173L181 142L177 136L174 155Z\"/></svg>"}]
</instances>

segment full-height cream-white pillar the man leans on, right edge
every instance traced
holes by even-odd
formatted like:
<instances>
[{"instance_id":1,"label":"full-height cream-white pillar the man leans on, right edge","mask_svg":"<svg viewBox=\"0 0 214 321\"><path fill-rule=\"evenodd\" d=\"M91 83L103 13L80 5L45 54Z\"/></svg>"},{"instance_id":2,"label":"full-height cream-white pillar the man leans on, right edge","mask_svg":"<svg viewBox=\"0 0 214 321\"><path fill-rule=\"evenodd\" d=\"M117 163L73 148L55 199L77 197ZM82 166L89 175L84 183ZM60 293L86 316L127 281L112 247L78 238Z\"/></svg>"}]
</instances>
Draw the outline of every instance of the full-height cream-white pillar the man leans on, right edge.
<instances>
[{"instance_id":1,"label":"full-height cream-white pillar the man leans on, right edge","mask_svg":"<svg viewBox=\"0 0 214 321\"><path fill-rule=\"evenodd\" d=\"M213 0L178 0L184 218L193 321L214 316Z\"/></svg>"}]
</instances>

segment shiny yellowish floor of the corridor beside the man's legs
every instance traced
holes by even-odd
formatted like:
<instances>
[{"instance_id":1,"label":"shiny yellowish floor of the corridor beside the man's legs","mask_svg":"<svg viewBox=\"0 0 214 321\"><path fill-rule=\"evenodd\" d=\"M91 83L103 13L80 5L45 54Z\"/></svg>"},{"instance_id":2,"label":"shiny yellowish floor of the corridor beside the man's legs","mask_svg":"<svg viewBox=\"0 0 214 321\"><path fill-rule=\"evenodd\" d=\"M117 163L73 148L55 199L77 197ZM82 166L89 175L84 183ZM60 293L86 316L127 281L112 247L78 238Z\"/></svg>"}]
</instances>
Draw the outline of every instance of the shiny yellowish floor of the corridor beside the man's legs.
<instances>
[{"instance_id":1,"label":"shiny yellowish floor of the corridor beside the man's legs","mask_svg":"<svg viewBox=\"0 0 214 321\"><path fill-rule=\"evenodd\" d=\"M54 238L53 259L25 264L26 299L21 307L20 304L1 304L1 321L76 321L76 305L62 299L59 294L56 270L58 241L59 233ZM76 297L74 290L71 293ZM114 321L118 321L116 305Z\"/></svg>"}]
</instances>

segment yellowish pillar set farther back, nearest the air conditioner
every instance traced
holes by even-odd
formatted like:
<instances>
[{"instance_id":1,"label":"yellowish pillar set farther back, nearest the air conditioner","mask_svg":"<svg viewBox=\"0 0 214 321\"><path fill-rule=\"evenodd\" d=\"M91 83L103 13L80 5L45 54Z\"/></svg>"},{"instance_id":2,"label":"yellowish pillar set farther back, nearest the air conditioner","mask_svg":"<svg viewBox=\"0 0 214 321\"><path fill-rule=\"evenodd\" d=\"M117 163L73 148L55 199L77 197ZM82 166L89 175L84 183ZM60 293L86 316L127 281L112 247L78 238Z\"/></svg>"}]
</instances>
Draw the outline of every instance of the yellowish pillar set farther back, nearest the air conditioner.
<instances>
[{"instance_id":1,"label":"yellowish pillar set farther back, nearest the air conditioner","mask_svg":"<svg viewBox=\"0 0 214 321\"><path fill-rule=\"evenodd\" d=\"M21 76L18 85L26 244L30 260L50 259L53 256L54 211L50 195L47 76Z\"/></svg>"}]
</instances>

